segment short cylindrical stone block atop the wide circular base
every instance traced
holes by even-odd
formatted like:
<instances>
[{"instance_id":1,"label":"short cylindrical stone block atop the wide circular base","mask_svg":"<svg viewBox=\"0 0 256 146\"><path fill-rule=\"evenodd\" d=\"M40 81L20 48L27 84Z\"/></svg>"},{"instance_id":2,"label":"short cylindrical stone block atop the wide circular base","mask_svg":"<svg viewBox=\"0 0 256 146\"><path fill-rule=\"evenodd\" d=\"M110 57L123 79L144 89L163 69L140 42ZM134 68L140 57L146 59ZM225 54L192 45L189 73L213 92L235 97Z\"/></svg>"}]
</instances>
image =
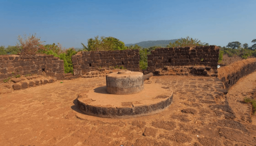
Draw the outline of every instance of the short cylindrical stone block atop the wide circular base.
<instances>
[{"instance_id":1,"label":"short cylindrical stone block atop the wide circular base","mask_svg":"<svg viewBox=\"0 0 256 146\"><path fill-rule=\"evenodd\" d=\"M106 76L107 92L117 95L135 94L144 89L143 73L124 70Z\"/></svg>"}]
</instances>

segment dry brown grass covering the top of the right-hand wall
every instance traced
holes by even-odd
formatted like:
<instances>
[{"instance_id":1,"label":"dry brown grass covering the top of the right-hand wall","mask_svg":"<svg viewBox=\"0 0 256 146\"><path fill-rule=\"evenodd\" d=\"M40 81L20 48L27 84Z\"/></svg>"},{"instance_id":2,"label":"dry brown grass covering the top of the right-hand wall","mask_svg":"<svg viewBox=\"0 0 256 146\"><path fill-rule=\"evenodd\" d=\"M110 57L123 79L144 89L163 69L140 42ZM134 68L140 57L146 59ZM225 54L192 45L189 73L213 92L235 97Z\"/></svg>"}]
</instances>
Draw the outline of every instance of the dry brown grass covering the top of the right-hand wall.
<instances>
[{"instance_id":1,"label":"dry brown grass covering the top of the right-hand wall","mask_svg":"<svg viewBox=\"0 0 256 146\"><path fill-rule=\"evenodd\" d=\"M218 69L218 78L227 77L229 74L236 73L242 69L243 66L256 62L256 58L249 58L241 61L234 62L228 66Z\"/></svg>"}]
</instances>

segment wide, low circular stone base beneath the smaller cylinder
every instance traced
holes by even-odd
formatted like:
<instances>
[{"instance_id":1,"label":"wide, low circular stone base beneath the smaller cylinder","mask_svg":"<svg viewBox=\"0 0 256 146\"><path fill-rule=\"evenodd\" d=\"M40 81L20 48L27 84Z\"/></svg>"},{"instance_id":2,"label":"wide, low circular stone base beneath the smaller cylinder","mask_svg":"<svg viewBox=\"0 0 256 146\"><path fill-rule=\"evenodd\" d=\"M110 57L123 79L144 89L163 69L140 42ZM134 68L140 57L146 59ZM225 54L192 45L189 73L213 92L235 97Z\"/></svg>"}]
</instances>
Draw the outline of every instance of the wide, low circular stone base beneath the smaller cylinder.
<instances>
[{"instance_id":1,"label":"wide, low circular stone base beneath the smaller cylinder","mask_svg":"<svg viewBox=\"0 0 256 146\"><path fill-rule=\"evenodd\" d=\"M132 95L113 95L106 86L78 95L78 105L87 115L106 118L131 118L164 110L173 100L173 92L161 84L144 84L144 90Z\"/></svg>"}]
</instances>

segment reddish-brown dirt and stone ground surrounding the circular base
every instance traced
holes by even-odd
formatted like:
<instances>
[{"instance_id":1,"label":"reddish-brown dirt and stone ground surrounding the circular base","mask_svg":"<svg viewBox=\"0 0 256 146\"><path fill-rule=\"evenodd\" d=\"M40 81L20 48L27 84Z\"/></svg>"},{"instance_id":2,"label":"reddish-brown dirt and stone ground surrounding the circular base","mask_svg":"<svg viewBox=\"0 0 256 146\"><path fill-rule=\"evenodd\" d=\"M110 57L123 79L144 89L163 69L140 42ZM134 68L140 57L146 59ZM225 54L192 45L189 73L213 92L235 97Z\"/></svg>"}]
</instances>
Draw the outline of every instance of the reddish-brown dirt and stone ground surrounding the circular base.
<instances>
[{"instance_id":1,"label":"reddish-brown dirt and stone ground surrounding the circular base","mask_svg":"<svg viewBox=\"0 0 256 146\"><path fill-rule=\"evenodd\" d=\"M104 77L0 94L0 145L253 146L255 116L251 123L248 115L241 120L248 105L232 101L233 95L253 92L255 77L256 72L242 78L223 96L223 84L214 77L154 76L147 82L172 88L173 103L161 113L130 119L98 118L78 110L78 94L105 85Z\"/></svg>"}]
</instances>

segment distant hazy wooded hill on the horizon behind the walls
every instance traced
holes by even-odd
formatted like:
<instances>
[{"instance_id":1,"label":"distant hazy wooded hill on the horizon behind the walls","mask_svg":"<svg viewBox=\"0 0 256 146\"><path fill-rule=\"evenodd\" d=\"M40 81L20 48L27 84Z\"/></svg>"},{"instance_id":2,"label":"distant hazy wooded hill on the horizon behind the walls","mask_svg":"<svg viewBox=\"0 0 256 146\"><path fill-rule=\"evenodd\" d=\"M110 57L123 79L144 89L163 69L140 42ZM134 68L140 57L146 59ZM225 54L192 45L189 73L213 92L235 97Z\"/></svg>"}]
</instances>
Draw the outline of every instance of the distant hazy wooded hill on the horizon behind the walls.
<instances>
[{"instance_id":1,"label":"distant hazy wooded hill on the horizon behind the walls","mask_svg":"<svg viewBox=\"0 0 256 146\"><path fill-rule=\"evenodd\" d=\"M143 41L143 42L139 42L139 43L129 43L126 44L125 46L129 47L130 45L138 45L140 47L143 48L148 48L148 47L153 47L153 46L162 46L162 47L166 47L167 45L169 45L170 42L174 43L175 41L177 41L178 39L171 39L171 40L158 40L158 41Z\"/></svg>"}]
</instances>

